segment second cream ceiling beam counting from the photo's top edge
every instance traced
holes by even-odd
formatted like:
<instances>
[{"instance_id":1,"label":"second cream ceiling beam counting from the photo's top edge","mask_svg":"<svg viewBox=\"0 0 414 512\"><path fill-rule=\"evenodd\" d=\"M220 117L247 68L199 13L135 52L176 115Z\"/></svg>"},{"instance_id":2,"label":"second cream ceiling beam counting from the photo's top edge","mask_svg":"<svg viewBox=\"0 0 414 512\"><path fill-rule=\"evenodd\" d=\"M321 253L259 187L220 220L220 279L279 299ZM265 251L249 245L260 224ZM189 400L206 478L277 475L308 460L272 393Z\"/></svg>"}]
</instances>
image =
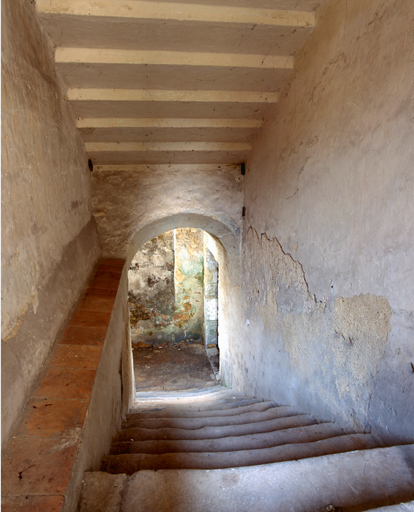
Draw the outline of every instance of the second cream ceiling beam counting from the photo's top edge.
<instances>
[{"instance_id":1,"label":"second cream ceiling beam counting from the photo's top edge","mask_svg":"<svg viewBox=\"0 0 414 512\"><path fill-rule=\"evenodd\" d=\"M57 64L131 64L164 66L210 66L227 68L293 69L294 58L280 55L235 53L57 48Z\"/></svg>"}]
</instances>

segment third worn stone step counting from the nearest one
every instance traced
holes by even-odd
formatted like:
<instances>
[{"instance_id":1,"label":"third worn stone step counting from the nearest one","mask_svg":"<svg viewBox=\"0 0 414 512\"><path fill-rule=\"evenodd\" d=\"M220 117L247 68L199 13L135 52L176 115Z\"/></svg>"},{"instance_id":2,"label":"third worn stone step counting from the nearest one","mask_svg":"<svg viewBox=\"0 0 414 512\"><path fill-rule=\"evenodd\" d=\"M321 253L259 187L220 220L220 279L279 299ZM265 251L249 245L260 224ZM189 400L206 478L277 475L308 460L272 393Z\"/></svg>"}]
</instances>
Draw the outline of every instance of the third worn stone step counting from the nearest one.
<instances>
[{"instance_id":1,"label":"third worn stone step counting from the nearest one","mask_svg":"<svg viewBox=\"0 0 414 512\"><path fill-rule=\"evenodd\" d=\"M342 436L346 433L348 432L345 432L334 423L320 423L306 427L219 439L140 441L139 439L134 440L134 438L130 438L128 441L112 443L110 454L257 450L282 444L309 443L329 437Z\"/></svg>"}]
</instances>

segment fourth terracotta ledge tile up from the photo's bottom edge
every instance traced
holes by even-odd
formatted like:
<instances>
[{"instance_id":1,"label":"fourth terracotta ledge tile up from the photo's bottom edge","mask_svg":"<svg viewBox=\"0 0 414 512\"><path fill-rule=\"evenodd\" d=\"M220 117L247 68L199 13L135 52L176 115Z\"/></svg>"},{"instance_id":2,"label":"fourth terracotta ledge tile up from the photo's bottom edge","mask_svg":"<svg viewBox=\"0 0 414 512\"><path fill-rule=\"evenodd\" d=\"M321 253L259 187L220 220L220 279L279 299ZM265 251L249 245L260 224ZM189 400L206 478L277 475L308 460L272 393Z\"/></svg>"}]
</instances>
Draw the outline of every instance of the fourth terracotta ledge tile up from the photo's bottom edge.
<instances>
[{"instance_id":1,"label":"fourth terracotta ledge tile up from the photo's bottom edge","mask_svg":"<svg viewBox=\"0 0 414 512\"><path fill-rule=\"evenodd\" d=\"M35 393L35 398L90 397L96 371L49 368Z\"/></svg>"}]
</instances>

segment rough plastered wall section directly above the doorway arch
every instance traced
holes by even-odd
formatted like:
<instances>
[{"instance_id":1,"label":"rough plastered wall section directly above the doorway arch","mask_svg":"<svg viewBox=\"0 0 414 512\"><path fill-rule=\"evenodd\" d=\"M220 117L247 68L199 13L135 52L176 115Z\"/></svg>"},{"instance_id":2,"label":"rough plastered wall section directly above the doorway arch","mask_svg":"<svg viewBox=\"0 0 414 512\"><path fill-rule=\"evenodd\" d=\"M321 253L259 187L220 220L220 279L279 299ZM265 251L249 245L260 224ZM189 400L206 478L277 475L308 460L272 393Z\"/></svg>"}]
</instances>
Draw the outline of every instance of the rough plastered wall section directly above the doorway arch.
<instances>
[{"instance_id":1,"label":"rough plastered wall section directly above the doorway arch","mask_svg":"<svg viewBox=\"0 0 414 512\"><path fill-rule=\"evenodd\" d=\"M143 243L175 228L210 231L211 219L223 224L219 230L226 226L238 235L243 198L240 166L209 171L197 166L190 170L173 166L97 170L92 174L92 186L93 215L105 256L131 260L142 246L140 232L147 226L154 228L148 228ZM166 218L176 220L154 233L155 225ZM219 234L216 229L213 232Z\"/></svg>"}]
</instances>

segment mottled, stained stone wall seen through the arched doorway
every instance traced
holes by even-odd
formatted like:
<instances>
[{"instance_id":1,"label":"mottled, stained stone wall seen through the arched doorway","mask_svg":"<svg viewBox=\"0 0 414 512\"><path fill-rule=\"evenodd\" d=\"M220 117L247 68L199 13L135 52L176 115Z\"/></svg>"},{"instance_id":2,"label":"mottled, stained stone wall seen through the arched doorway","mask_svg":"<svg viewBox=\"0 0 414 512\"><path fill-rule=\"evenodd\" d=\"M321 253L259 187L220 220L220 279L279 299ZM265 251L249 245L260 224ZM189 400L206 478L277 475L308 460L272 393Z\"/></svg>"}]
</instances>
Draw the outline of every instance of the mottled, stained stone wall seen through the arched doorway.
<instances>
[{"instance_id":1,"label":"mottled, stained stone wall seen through the arched doorway","mask_svg":"<svg viewBox=\"0 0 414 512\"><path fill-rule=\"evenodd\" d=\"M203 272L198 229L168 231L142 246L128 272L133 345L204 340Z\"/></svg>"}]
</instances>

